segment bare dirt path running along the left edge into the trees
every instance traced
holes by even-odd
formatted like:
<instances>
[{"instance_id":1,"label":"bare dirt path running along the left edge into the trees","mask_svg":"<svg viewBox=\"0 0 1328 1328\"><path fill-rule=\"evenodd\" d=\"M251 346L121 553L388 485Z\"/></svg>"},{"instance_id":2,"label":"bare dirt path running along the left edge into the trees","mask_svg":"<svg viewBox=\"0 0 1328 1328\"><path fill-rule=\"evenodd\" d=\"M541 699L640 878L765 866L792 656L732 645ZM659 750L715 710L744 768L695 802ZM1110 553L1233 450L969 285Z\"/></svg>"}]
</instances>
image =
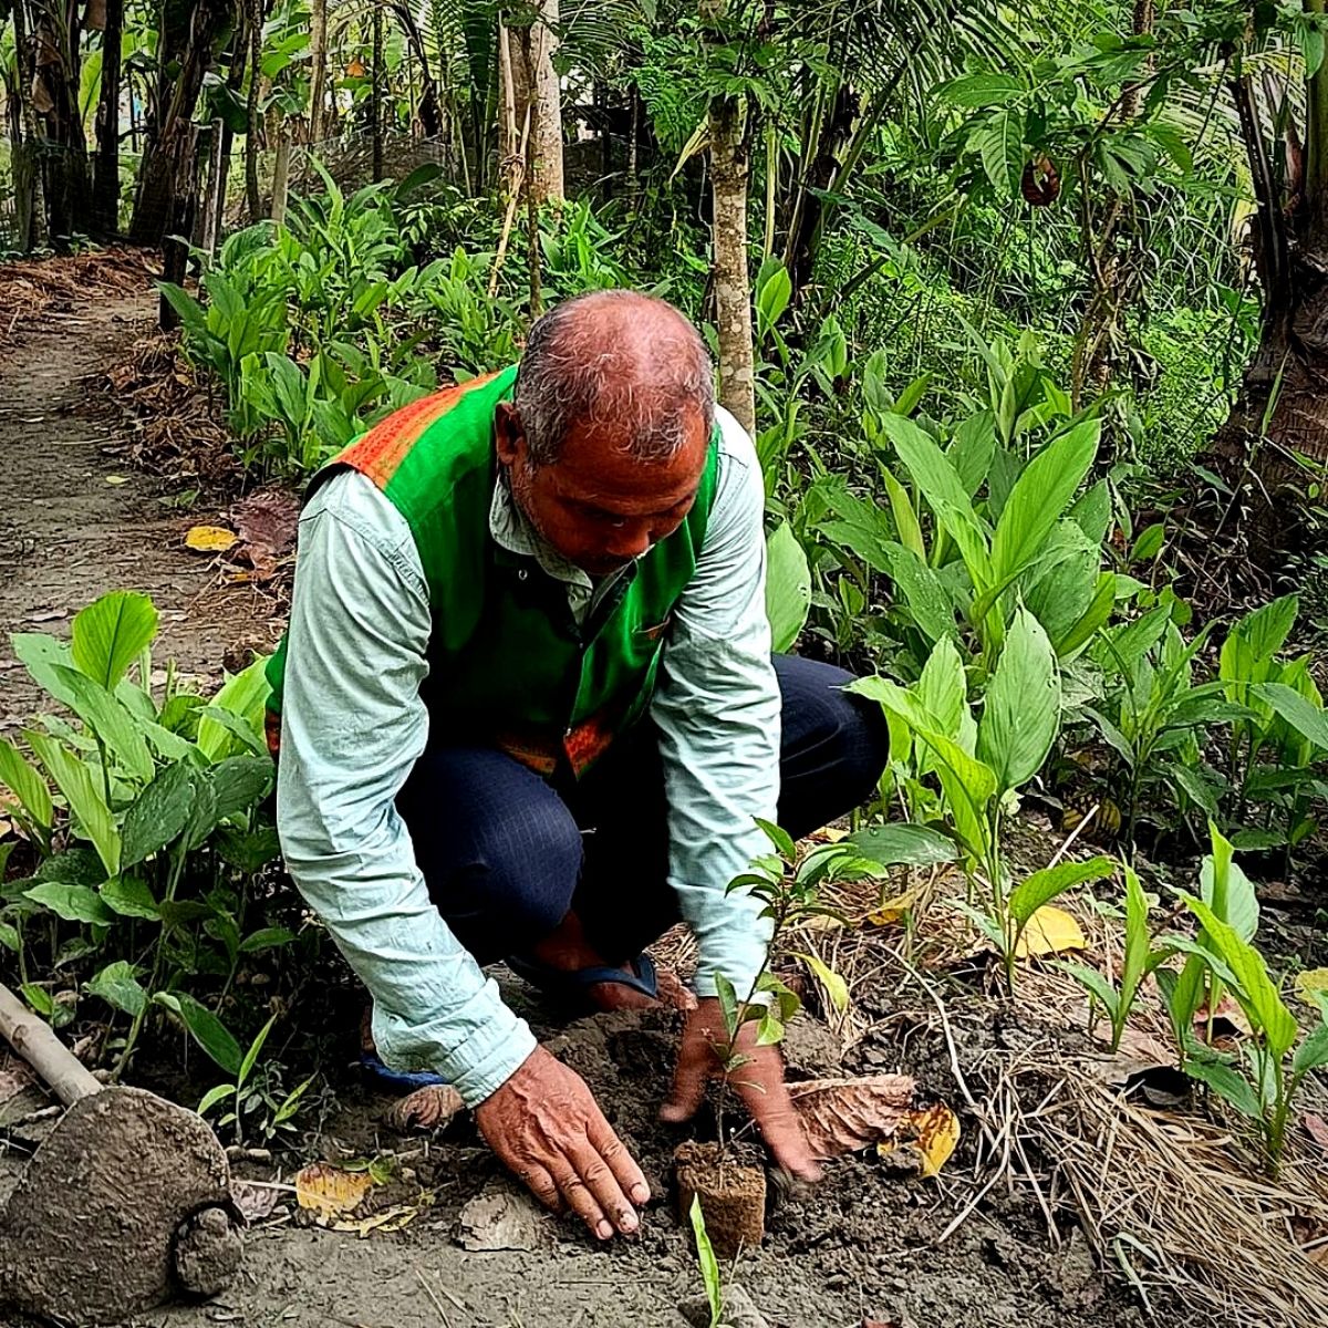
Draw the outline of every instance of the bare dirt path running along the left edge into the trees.
<instances>
[{"instance_id":1,"label":"bare dirt path running along the left edge into the trees","mask_svg":"<svg viewBox=\"0 0 1328 1328\"><path fill-rule=\"evenodd\" d=\"M108 590L151 595L158 660L174 657L186 673L219 676L227 648L252 635L251 596L218 587L208 560L182 544L207 514L163 507L117 457L131 426L98 378L153 308L146 292L89 300L77 315L44 315L0 349L0 728L41 706L11 633L68 635L73 614Z\"/></svg>"}]
</instances>

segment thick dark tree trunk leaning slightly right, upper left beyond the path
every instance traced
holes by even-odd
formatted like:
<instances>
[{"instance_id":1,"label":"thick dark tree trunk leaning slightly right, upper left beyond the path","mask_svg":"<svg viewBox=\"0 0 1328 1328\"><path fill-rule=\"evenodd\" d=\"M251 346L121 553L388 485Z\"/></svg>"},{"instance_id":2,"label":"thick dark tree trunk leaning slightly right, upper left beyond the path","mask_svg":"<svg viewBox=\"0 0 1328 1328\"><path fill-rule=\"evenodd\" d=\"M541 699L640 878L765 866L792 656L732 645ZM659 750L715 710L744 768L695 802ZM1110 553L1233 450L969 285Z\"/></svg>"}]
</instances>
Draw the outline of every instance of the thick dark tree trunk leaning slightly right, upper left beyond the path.
<instances>
[{"instance_id":1,"label":"thick dark tree trunk leaning slightly right, upper left beyond the path","mask_svg":"<svg viewBox=\"0 0 1328 1328\"><path fill-rule=\"evenodd\" d=\"M145 117L146 139L129 238L158 246L167 234L189 235L198 207L194 108L216 44L235 17L234 0L167 5L159 33L161 72Z\"/></svg>"}]
</instances>

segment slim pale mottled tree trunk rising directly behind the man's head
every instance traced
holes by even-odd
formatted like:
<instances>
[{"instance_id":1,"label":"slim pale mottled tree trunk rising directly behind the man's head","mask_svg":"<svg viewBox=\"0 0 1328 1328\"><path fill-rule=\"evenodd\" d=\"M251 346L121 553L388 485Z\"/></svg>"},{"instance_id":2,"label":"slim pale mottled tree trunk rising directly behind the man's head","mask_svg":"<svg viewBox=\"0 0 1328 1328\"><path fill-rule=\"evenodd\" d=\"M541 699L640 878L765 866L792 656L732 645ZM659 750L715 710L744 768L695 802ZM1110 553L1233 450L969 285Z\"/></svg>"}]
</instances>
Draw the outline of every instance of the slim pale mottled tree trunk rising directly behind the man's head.
<instances>
[{"instance_id":1,"label":"slim pale mottled tree trunk rising directly behind the man's head","mask_svg":"<svg viewBox=\"0 0 1328 1328\"><path fill-rule=\"evenodd\" d=\"M744 105L710 102L713 182L714 323L720 336L720 402L756 433L756 364L752 353L752 279L748 272L748 154Z\"/></svg>"}]
</instances>

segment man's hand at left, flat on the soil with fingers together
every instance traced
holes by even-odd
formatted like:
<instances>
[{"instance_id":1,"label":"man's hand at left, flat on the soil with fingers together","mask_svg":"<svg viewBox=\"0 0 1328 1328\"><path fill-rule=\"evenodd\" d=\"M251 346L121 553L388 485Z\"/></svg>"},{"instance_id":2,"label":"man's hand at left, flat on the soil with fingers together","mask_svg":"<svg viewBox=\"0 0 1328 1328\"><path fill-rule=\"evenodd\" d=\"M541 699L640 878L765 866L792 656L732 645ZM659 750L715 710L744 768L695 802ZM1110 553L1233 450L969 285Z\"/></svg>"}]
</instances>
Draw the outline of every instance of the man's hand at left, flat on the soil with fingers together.
<instances>
[{"instance_id":1,"label":"man's hand at left, flat on the soil with fingers together","mask_svg":"<svg viewBox=\"0 0 1328 1328\"><path fill-rule=\"evenodd\" d=\"M595 1105L586 1081L537 1046L511 1078L475 1108L475 1123L540 1203L571 1208L608 1240L640 1226L649 1186Z\"/></svg>"}]
</instances>

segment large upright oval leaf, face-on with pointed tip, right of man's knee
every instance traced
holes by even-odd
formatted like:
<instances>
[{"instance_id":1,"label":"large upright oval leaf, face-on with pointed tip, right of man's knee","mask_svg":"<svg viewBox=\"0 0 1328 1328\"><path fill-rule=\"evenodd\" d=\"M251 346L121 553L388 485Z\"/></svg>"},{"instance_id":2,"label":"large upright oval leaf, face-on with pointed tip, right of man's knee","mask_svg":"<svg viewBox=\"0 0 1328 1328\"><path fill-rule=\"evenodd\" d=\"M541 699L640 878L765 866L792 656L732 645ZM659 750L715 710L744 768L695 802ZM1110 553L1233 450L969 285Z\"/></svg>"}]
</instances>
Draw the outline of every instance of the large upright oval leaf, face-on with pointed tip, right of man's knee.
<instances>
[{"instance_id":1,"label":"large upright oval leaf, face-on with pointed tip, right of man's knee","mask_svg":"<svg viewBox=\"0 0 1328 1328\"><path fill-rule=\"evenodd\" d=\"M1017 789L1042 768L1061 726L1061 684L1056 652L1042 624L1020 608L977 725L977 756L995 773L997 789Z\"/></svg>"}]
</instances>

